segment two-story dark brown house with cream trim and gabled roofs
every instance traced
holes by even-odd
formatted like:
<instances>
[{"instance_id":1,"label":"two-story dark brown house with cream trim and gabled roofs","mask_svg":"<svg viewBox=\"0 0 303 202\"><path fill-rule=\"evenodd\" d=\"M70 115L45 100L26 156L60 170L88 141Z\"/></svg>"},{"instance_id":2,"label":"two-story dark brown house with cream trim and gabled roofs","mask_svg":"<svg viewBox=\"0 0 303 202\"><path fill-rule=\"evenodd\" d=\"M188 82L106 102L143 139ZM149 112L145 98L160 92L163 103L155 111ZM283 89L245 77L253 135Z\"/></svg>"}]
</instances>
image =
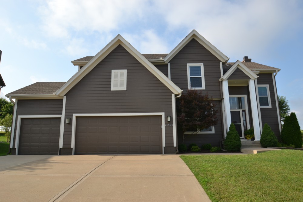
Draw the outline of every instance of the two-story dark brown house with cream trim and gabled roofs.
<instances>
[{"instance_id":1,"label":"two-story dark brown house with cream trim and gabled roofs","mask_svg":"<svg viewBox=\"0 0 303 202\"><path fill-rule=\"evenodd\" d=\"M260 140L268 123L279 137L275 76L280 69L233 63L193 30L168 54L141 54L117 35L93 57L72 61L67 82L37 82L15 98L14 154L152 154L178 150L176 99L189 88L207 93L218 124L185 143L219 146L234 123L243 140Z\"/></svg>"}]
</instances>

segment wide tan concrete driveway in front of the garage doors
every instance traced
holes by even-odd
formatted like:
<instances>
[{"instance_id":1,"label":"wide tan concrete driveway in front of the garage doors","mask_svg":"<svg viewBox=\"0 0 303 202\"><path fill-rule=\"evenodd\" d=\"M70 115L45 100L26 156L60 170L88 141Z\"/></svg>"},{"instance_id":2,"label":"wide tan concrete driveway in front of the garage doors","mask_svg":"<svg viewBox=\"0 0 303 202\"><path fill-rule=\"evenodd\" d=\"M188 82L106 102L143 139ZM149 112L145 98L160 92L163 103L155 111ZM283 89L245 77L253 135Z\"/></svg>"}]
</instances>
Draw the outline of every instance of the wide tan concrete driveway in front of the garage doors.
<instances>
[{"instance_id":1,"label":"wide tan concrete driveway in front of the garage doors","mask_svg":"<svg viewBox=\"0 0 303 202\"><path fill-rule=\"evenodd\" d=\"M0 157L1 201L210 201L178 155Z\"/></svg>"}]
</instances>

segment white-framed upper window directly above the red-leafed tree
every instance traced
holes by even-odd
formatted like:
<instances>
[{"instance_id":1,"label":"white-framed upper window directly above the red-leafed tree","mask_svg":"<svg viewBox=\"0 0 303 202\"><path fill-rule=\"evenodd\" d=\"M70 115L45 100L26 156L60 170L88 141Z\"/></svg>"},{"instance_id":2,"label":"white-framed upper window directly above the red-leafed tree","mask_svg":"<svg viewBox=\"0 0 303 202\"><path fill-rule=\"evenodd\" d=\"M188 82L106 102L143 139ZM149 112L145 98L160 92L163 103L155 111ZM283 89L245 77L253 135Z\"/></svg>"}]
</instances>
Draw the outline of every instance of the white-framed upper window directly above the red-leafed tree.
<instances>
[{"instance_id":1,"label":"white-framed upper window directly above the red-leafed tree","mask_svg":"<svg viewBox=\"0 0 303 202\"><path fill-rule=\"evenodd\" d=\"M188 89L205 89L203 63L187 64Z\"/></svg>"}]
</instances>

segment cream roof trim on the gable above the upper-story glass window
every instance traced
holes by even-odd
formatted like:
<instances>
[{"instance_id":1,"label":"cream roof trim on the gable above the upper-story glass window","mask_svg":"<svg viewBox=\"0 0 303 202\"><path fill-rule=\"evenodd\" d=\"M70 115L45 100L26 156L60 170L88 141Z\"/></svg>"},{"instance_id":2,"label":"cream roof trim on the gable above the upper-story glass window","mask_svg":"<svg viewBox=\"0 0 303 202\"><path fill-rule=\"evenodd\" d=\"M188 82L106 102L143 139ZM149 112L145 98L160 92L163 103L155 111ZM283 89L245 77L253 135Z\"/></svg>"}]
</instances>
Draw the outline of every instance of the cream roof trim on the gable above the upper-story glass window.
<instances>
[{"instance_id":1,"label":"cream roof trim on the gable above the upper-story glass window","mask_svg":"<svg viewBox=\"0 0 303 202\"><path fill-rule=\"evenodd\" d=\"M191 39L196 39L201 45L203 45L209 52L214 54L221 62L227 62L229 58L219 51L214 45L207 41L196 30L192 30L185 39L183 39L167 56L164 58L164 62L169 62Z\"/></svg>"}]
</instances>

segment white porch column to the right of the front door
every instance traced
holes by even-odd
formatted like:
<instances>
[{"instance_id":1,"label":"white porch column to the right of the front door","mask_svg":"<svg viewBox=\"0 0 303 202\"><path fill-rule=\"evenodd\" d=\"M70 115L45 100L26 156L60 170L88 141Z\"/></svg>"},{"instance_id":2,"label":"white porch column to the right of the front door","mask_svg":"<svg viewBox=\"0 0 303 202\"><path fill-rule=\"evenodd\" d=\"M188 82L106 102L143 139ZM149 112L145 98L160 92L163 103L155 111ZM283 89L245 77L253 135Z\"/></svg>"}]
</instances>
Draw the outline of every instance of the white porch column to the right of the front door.
<instances>
[{"instance_id":1,"label":"white porch column to the right of the front door","mask_svg":"<svg viewBox=\"0 0 303 202\"><path fill-rule=\"evenodd\" d=\"M254 125L254 131L255 131L255 140L260 140L261 132L260 132L259 113L258 113L255 82L253 79L250 79L248 81L248 86L249 86L249 96L250 96L250 103L251 103L252 123Z\"/></svg>"}]
</instances>

